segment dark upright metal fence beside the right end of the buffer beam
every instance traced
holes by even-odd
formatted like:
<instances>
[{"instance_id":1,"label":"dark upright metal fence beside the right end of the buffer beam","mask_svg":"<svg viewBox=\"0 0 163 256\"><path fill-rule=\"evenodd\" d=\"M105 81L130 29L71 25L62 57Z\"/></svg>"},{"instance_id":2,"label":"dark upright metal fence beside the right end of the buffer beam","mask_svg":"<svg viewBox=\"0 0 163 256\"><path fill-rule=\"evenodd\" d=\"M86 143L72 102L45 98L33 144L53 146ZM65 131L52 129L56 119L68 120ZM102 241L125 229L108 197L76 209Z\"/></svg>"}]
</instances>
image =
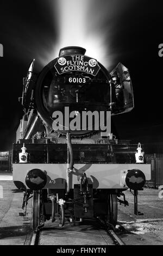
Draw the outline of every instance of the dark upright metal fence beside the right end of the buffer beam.
<instances>
[{"instance_id":1,"label":"dark upright metal fence beside the right end of the buffer beam","mask_svg":"<svg viewBox=\"0 0 163 256\"><path fill-rule=\"evenodd\" d=\"M151 180L146 181L146 186L158 188L163 185L163 154L146 154L145 158L151 163Z\"/></svg>"}]
</instances>

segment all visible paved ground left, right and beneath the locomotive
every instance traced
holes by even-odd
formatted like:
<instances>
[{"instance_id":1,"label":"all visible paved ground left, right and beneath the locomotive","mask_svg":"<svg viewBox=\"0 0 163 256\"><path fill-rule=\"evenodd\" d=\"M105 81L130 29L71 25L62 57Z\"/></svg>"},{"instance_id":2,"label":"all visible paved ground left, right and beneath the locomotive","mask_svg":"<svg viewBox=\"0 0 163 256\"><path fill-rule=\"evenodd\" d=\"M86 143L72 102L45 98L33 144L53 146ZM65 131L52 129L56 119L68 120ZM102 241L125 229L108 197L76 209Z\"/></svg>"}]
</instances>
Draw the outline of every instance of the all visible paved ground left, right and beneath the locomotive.
<instances>
[{"instance_id":1,"label":"all visible paved ground left, right and beneath the locomotive","mask_svg":"<svg viewBox=\"0 0 163 256\"><path fill-rule=\"evenodd\" d=\"M116 231L126 245L163 245L163 198L159 198L159 192L163 194L163 191L152 188L139 191L139 211L144 213L140 216L134 215L133 195L125 192L129 206L118 204ZM32 199L28 205L28 216L24 218L18 215L22 211L22 197L23 193L11 181L11 174L0 173L0 245L23 245L26 240L30 231ZM65 225L64 229L60 229L57 223L47 222L40 236L40 244L52 245L54 241L58 245L111 243L106 233L93 226L93 223L89 224L79 227Z\"/></svg>"}]
</instances>

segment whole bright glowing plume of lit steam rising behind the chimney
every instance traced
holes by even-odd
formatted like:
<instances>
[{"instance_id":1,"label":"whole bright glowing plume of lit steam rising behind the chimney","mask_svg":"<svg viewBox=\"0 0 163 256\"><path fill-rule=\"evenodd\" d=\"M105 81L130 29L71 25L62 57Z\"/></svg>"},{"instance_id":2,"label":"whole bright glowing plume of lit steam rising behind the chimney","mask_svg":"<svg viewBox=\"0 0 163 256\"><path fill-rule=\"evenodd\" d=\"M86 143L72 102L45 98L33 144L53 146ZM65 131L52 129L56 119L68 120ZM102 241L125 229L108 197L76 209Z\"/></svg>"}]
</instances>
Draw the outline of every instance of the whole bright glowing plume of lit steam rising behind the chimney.
<instances>
[{"instance_id":1,"label":"whole bright glowing plume of lit steam rising behind the chimney","mask_svg":"<svg viewBox=\"0 0 163 256\"><path fill-rule=\"evenodd\" d=\"M111 46L116 33L116 19L131 4L130 0L48 0L54 10L54 23L58 38L51 52L42 51L41 65L58 57L66 46L81 46L86 55L95 58L106 68L112 65L116 50ZM37 58L38 59L38 58Z\"/></svg>"}]
</instances>

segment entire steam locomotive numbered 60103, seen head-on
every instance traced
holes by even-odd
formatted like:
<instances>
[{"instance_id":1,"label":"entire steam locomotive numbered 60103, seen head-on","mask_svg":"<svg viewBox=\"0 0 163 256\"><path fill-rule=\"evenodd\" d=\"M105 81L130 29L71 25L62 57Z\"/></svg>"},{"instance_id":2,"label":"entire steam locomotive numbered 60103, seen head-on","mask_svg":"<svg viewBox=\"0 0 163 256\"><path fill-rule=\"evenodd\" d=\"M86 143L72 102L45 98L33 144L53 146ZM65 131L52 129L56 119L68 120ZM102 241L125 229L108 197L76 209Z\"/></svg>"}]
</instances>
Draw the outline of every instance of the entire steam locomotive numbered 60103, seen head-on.
<instances>
[{"instance_id":1,"label":"entire steam locomotive numbered 60103, seen head-on","mask_svg":"<svg viewBox=\"0 0 163 256\"><path fill-rule=\"evenodd\" d=\"M24 115L13 144L12 168L14 184L23 191L22 215L33 197L34 230L57 215L61 227L65 217L72 223L100 218L115 226L117 203L128 205L123 192L133 190L134 212L139 214L137 191L151 178L141 146L136 151L106 127L111 115L134 108L128 69L119 63L108 72L85 51L61 48L40 74L35 74L33 60L23 78L19 100Z\"/></svg>"}]
</instances>

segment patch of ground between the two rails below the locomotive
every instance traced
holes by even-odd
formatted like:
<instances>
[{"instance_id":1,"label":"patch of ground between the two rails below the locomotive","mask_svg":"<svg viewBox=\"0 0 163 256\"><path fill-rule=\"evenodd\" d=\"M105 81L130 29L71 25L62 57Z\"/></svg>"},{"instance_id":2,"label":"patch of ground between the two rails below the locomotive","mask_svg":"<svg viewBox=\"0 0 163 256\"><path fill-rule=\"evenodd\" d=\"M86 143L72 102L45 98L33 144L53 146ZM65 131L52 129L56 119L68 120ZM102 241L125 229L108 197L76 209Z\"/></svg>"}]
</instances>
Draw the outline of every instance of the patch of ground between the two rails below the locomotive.
<instances>
[{"instance_id":1,"label":"patch of ground between the two rails below the locomotive","mask_svg":"<svg viewBox=\"0 0 163 256\"><path fill-rule=\"evenodd\" d=\"M39 245L114 245L111 237L95 221L84 221L81 225L59 227L59 220L48 222L40 233Z\"/></svg>"}]
</instances>

